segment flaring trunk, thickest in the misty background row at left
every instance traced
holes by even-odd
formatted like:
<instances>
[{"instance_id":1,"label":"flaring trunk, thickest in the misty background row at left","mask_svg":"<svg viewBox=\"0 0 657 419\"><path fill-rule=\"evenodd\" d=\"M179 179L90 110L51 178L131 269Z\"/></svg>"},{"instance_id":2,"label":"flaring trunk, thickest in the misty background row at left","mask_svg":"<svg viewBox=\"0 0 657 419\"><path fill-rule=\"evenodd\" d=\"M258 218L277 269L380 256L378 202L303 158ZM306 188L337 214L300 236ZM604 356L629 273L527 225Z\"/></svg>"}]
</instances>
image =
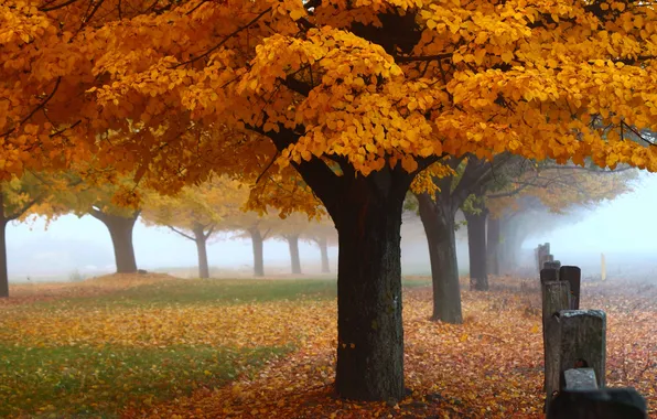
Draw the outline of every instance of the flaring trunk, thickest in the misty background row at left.
<instances>
[{"instance_id":1,"label":"flaring trunk, thickest in the misty background row at left","mask_svg":"<svg viewBox=\"0 0 657 419\"><path fill-rule=\"evenodd\" d=\"M97 210L93 210L89 214L103 222L109 230L114 246L117 273L137 272L137 260L134 258L134 247L132 246L132 229L134 228L139 212L134 213L131 217L107 214Z\"/></svg>"}]
</instances>

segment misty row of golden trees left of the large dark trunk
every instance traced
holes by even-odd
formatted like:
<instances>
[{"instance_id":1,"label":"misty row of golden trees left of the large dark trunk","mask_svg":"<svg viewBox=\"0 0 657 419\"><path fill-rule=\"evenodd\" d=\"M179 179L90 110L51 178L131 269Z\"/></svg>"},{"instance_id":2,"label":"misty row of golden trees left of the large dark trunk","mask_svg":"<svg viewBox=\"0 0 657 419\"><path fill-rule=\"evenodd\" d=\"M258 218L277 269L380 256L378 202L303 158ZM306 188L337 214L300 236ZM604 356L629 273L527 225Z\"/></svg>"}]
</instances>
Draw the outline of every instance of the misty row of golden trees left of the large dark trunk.
<instances>
[{"instance_id":1,"label":"misty row of golden trees left of the large dark trunk","mask_svg":"<svg viewBox=\"0 0 657 419\"><path fill-rule=\"evenodd\" d=\"M89 184L79 175L26 174L0 184L0 298L8 297L8 270L4 227L11 221L45 216L50 222L64 214L90 215L101 222L111 237L117 272L138 269L132 245L137 219L147 225L165 226L194 241L198 255L198 277L209 277L207 244L218 233L230 232L249 237L254 246L254 275L265 275L263 241L284 239L289 244L292 273L301 272L299 241L317 245L322 272L330 271L328 246L336 241L335 228L326 217L309 219L291 214L281 219L276 214L243 211L248 190L226 179L185 187L175 196L146 191L139 207L125 207L112 202L114 184ZM47 224L46 224L47 226Z\"/></svg>"}]
</instances>

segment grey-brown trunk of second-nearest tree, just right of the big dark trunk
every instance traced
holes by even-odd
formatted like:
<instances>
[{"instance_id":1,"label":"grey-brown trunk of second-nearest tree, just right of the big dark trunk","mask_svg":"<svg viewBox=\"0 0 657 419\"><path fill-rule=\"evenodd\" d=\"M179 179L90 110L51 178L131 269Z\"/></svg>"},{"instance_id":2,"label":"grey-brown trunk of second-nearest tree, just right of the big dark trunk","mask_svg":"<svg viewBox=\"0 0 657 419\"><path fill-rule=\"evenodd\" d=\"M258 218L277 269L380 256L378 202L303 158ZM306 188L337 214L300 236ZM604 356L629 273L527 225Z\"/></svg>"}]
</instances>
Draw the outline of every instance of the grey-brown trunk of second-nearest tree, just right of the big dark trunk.
<instances>
[{"instance_id":1,"label":"grey-brown trunk of second-nearest tree, just right of the big dark trunk","mask_svg":"<svg viewBox=\"0 0 657 419\"><path fill-rule=\"evenodd\" d=\"M427 234L431 262L432 320L460 324L463 323L463 314L454 232L456 212L453 210L453 205L450 205L449 197L442 201L441 197L439 196L434 202L428 194L418 195L420 219Z\"/></svg>"}]
</instances>

